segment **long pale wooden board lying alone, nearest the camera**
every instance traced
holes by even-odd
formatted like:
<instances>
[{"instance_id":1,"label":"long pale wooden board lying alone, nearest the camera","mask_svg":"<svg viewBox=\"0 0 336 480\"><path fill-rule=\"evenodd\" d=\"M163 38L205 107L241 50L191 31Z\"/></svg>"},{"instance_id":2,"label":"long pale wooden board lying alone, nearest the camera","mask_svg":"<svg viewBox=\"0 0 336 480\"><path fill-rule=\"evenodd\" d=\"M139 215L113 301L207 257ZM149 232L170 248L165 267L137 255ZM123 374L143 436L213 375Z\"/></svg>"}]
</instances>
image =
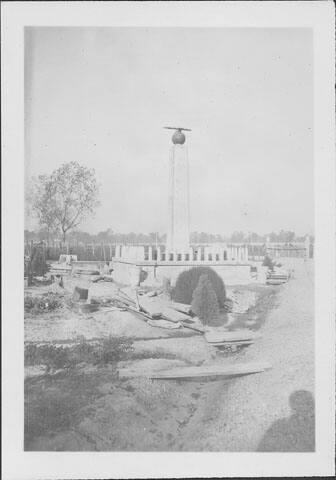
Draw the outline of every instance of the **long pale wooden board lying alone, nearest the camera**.
<instances>
[{"instance_id":1,"label":"long pale wooden board lying alone, nearest the camera","mask_svg":"<svg viewBox=\"0 0 336 480\"><path fill-rule=\"evenodd\" d=\"M130 378L134 376L152 378L157 380L179 380L189 378L204 377L233 377L240 375L250 375L253 373L264 372L272 368L269 363L242 363L232 365L206 365L200 367L179 367L170 370L160 370L156 372L137 373L128 369L119 370L121 378Z\"/></svg>"}]
</instances>

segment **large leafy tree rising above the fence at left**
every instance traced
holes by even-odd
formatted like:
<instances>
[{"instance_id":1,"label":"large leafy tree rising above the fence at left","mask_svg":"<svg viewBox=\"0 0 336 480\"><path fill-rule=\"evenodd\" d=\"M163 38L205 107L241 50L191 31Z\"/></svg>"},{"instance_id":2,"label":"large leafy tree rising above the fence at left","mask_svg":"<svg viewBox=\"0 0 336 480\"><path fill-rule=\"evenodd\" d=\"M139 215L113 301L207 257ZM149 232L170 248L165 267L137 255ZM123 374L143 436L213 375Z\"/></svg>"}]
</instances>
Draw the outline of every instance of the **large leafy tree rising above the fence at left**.
<instances>
[{"instance_id":1,"label":"large leafy tree rising above the fence at left","mask_svg":"<svg viewBox=\"0 0 336 480\"><path fill-rule=\"evenodd\" d=\"M63 164L51 175L40 175L36 182L33 211L41 226L66 233L94 213L98 183L93 169L78 162Z\"/></svg>"}]
</instances>

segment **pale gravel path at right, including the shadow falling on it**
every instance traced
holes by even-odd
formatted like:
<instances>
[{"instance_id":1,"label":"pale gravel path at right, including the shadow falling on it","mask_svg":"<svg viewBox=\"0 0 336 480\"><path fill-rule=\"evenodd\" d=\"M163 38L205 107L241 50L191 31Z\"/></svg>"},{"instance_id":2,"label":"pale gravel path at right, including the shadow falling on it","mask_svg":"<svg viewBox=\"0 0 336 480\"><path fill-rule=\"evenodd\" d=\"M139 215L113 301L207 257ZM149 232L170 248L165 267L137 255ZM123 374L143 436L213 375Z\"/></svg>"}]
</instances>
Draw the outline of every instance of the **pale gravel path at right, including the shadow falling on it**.
<instances>
[{"instance_id":1,"label":"pale gravel path at right, including the shadow falling on it","mask_svg":"<svg viewBox=\"0 0 336 480\"><path fill-rule=\"evenodd\" d=\"M202 439L188 432L185 449L210 451L314 450L314 288L313 265L296 268L279 287L263 337L241 360L267 361L272 370L218 385L213 421ZM198 424L195 416L195 427ZM199 425L198 425L199 428ZM187 432L186 432L187 433Z\"/></svg>"}]
</instances>

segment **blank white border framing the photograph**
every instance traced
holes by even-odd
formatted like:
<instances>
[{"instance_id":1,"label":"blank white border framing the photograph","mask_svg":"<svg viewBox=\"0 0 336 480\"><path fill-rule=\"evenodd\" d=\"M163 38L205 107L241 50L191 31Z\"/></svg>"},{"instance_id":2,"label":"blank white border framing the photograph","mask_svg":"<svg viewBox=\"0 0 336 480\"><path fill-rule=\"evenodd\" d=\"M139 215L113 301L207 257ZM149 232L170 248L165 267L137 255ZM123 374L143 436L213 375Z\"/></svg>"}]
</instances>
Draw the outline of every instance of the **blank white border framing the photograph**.
<instances>
[{"instance_id":1,"label":"blank white border framing the photograph","mask_svg":"<svg viewBox=\"0 0 336 480\"><path fill-rule=\"evenodd\" d=\"M3 478L330 476L335 430L335 114L332 1L5 2L2 10ZM315 453L23 451L24 27L312 28L315 173ZM21 258L22 257L22 258Z\"/></svg>"}]
</instances>

